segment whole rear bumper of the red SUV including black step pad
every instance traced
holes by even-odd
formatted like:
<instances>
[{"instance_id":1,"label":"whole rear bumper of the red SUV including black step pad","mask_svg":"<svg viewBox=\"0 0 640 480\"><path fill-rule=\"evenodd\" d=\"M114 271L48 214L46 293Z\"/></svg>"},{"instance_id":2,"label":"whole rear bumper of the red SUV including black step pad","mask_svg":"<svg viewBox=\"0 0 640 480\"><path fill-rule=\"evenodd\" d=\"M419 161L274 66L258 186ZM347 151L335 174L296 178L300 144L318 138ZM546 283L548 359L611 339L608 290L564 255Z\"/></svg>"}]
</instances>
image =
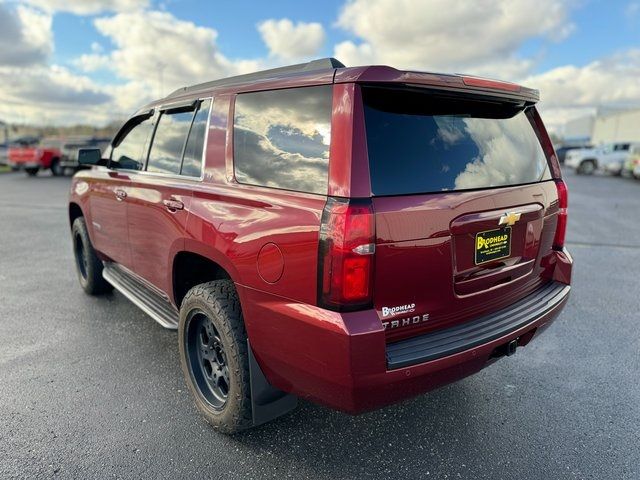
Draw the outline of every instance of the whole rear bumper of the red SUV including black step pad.
<instances>
[{"instance_id":1,"label":"whole rear bumper of the red SUV including black step pad","mask_svg":"<svg viewBox=\"0 0 640 480\"><path fill-rule=\"evenodd\" d=\"M357 414L476 373L512 340L525 346L564 307L551 281L512 306L422 337L386 344L373 310L336 313L238 286L251 345L277 388Z\"/></svg>"}]
</instances>

